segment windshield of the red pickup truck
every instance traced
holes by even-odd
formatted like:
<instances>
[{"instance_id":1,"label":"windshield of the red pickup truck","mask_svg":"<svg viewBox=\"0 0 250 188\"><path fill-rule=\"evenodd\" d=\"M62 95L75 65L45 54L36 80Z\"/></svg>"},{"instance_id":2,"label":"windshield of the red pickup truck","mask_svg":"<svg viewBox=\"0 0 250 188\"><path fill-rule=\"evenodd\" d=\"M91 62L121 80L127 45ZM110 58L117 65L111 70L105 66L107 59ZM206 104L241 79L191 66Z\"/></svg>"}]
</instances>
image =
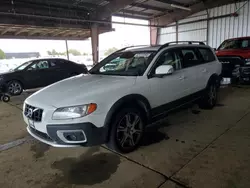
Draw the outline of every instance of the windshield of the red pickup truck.
<instances>
[{"instance_id":1,"label":"windshield of the red pickup truck","mask_svg":"<svg viewBox=\"0 0 250 188\"><path fill-rule=\"evenodd\" d=\"M250 48L250 39L232 39L224 41L219 50L227 49L249 49Z\"/></svg>"}]
</instances>

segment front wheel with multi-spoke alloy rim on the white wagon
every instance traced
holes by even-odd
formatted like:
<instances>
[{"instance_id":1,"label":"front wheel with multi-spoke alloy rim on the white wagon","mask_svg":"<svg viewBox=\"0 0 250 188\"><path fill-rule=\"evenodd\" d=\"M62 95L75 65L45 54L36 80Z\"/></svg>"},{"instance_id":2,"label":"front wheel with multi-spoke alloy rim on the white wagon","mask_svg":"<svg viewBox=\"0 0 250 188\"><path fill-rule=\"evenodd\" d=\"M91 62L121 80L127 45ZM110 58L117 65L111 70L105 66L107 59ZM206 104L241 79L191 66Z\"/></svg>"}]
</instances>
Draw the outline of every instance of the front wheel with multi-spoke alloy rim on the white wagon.
<instances>
[{"instance_id":1,"label":"front wheel with multi-spoke alloy rim on the white wagon","mask_svg":"<svg viewBox=\"0 0 250 188\"><path fill-rule=\"evenodd\" d=\"M124 108L118 112L111 124L110 138L106 145L119 153L137 149L145 130L145 118L137 108Z\"/></svg>"}]
</instances>

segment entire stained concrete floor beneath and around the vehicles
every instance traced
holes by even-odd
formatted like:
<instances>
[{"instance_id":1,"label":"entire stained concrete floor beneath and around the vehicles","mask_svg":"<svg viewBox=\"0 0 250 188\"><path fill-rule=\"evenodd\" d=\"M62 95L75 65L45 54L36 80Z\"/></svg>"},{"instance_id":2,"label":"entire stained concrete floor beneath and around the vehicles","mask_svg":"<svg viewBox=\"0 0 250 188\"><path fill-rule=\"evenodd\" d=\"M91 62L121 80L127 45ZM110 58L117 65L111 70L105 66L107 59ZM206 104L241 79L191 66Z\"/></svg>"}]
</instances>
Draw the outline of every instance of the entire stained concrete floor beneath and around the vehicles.
<instances>
[{"instance_id":1,"label":"entire stained concrete floor beneath and around the vehicles","mask_svg":"<svg viewBox=\"0 0 250 188\"><path fill-rule=\"evenodd\" d=\"M35 141L20 110L27 95L0 103L0 187L250 187L248 87L222 89L213 110L193 106L170 115L128 155Z\"/></svg>"}]
</instances>

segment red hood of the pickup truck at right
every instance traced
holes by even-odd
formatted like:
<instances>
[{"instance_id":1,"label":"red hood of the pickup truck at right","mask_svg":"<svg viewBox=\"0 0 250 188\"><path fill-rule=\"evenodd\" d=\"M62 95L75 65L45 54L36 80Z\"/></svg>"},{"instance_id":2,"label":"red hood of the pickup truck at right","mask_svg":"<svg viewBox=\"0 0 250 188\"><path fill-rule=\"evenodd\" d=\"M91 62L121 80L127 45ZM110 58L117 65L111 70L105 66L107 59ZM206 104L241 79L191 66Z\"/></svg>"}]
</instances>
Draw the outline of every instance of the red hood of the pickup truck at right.
<instances>
[{"instance_id":1,"label":"red hood of the pickup truck at right","mask_svg":"<svg viewBox=\"0 0 250 188\"><path fill-rule=\"evenodd\" d=\"M229 50L218 50L216 55L220 56L240 56L245 59L250 58L250 49L229 49Z\"/></svg>"}]
</instances>

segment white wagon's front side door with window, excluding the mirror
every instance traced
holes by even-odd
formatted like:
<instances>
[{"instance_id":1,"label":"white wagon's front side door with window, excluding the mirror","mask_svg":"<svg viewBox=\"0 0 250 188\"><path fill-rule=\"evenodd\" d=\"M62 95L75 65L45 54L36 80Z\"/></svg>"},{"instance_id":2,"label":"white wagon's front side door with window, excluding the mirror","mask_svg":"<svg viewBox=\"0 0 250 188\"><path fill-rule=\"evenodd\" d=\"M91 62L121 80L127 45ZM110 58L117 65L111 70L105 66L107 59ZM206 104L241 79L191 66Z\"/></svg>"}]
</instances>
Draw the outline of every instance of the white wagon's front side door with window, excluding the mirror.
<instances>
[{"instance_id":1,"label":"white wagon's front side door with window, excluding the mirror","mask_svg":"<svg viewBox=\"0 0 250 188\"><path fill-rule=\"evenodd\" d=\"M159 78L155 70L161 65L172 65L174 72ZM154 114L163 113L178 105L178 100L185 97L188 85L182 70L182 60L178 50L166 50L161 53L150 72L151 106Z\"/></svg>"}]
</instances>

